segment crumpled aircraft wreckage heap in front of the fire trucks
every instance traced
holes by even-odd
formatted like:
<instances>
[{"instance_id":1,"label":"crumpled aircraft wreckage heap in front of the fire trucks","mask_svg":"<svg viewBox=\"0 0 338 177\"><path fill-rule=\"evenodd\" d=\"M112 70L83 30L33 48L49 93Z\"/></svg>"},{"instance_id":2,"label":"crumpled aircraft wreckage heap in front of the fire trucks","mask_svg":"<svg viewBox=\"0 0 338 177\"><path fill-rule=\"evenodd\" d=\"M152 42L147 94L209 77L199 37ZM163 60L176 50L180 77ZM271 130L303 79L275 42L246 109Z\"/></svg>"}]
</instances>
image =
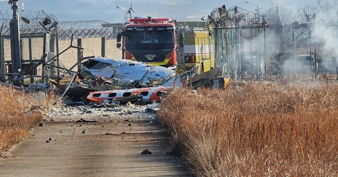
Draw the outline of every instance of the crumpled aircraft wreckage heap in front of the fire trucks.
<instances>
[{"instance_id":1,"label":"crumpled aircraft wreckage heap in front of the fire trucks","mask_svg":"<svg viewBox=\"0 0 338 177\"><path fill-rule=\"evenodd\" d=\"M223 67L200 75L197 74L197 68L178 74L163 66L114 58L92 58L79 66L77 80L81 81L74 82L73 75L67 86L53 80L50 82L64 91L64 94L87 98L97 104L122 104L128 101L140 105L149 104L159 102L163 94L175 88L223 89L229 81L223 76Z\"/></svg>"}]
</instances>

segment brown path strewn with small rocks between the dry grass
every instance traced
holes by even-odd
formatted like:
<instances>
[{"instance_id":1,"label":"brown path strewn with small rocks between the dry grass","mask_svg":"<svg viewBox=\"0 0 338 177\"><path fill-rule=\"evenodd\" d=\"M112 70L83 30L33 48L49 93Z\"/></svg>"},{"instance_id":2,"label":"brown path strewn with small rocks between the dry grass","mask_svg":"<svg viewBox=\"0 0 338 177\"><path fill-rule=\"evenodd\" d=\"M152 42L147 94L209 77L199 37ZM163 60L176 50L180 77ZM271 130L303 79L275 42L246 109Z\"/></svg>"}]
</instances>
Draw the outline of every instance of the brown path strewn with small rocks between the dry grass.
<instances>
[{"instance_id":1,"label":"brown path strewn with small rocks between the dry grass","mask_svg":"<svg viewBox=\"0 0 338 177\"><path fill-rule=\"evenodd\" d=\"M1 177L191 176L182 157L166 154L166 133L142 117L131 121L51 122L35 128L33 135L12 152L12 157L0 160ZM46 143L49 138L52 141ZM146 148L153 154L141 155Z\"/></svg>"}]
</instances>

